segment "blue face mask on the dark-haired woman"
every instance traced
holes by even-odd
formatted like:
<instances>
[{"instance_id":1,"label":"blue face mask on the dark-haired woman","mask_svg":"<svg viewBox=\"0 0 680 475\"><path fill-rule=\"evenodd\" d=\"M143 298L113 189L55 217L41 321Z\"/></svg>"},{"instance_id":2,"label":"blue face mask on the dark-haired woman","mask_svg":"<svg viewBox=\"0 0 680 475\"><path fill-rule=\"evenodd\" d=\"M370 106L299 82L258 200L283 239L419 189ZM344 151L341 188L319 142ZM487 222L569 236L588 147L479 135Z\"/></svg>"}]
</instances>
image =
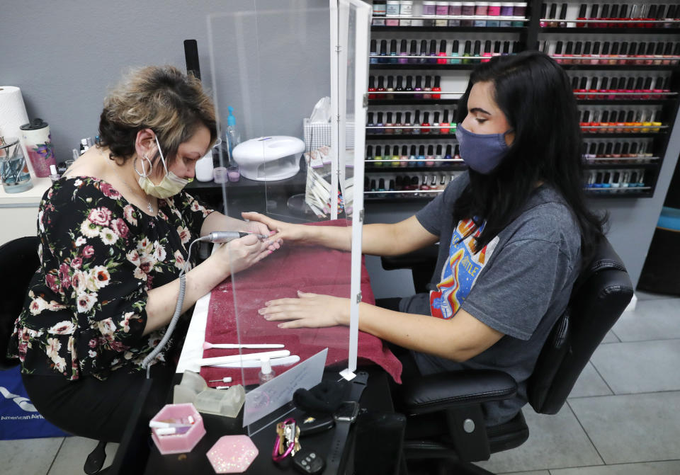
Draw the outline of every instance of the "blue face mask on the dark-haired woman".
<instances>
[{"instance_id":1,"label":"blue face mask on the dark-haired woman","mask_svg":"<svg viewBox=\"0 0 680 475\"><path fill-rule=\"evenodd\" d=\"M460 158L472 170L488 175L499 166L510 147L505 143L502 134L475 134L463 128L463 124L455 127L455 138L458 139Z\"/></svg>"}]
</instances>

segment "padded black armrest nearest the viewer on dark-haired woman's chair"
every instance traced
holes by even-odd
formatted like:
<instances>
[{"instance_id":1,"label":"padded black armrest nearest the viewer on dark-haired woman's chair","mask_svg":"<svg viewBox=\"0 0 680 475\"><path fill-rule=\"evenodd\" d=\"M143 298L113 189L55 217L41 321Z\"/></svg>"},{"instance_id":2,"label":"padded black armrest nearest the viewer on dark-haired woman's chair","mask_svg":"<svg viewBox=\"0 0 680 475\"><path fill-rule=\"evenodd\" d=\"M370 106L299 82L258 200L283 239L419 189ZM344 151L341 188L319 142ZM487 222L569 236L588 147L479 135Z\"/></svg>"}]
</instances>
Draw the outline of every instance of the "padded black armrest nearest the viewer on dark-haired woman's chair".
<instances>
[{"instance_id":1,"label":"padded black armrest nearest the viewer on dark-haired woman's chair","mask_svg":"<svg viewBox=\"0 0 680 475\"><path fill-rule=\"evenodd\" d=\"M514 396L517 383L495 370L451 371L415 379L404 384L401 402L411 414L424 414L449 408L502 401Z\"/></svg>"}]
</instances>

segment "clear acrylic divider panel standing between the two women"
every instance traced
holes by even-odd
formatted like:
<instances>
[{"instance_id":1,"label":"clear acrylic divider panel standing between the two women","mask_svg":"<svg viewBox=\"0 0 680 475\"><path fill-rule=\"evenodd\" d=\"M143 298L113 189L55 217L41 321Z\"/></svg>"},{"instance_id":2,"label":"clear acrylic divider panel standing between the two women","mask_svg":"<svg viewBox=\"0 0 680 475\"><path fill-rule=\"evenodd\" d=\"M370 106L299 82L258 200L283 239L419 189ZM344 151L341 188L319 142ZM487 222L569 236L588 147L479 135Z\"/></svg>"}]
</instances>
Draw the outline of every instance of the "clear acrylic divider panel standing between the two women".
<instances>
[{"instance_id":1,"label":"clear acrylic divider panel standing between the two women","mask_svg":"<svg viewBox=\"0 0 680 475\"><path fill-rule=\"evenodd\" d=\"M346 4L342 13L342 8L334 8L332 3L330 11L301 5L299 1L281 1L271 6L271 2L254 0L247 10L208 16L212 90L220 137L225 144L220 165L238 166L240 173L239 181L222 186L225 214L241 219L241 212L259 213L264 218L232 225L238 231L266 237L258 240L246 236L223 244L227 246L232 275L212 292L205 340L283 345L212 348L203 355L241 355L232 367L209 367L203 370L203 376L229 376L232 384L244 384L244 425L249 435L282 420L293 409L290 401L295 389L310 389L318 384L324 368L327 374L335 372L338 379L341 370L356 369L356 348L351 362L349 326L278 326L295 321L301 306L312 301L319 303L314 304L314 311L305 313L312 319L307 323L310 326L315 325L315 319L329 317L338 304L349 308L353 302L356 313L358 290L354 287L361 274L361 239L355 241L351 229L356 210L356 196L352 193L353 180L357 178L353 163L356 136L352 132L348 134L350 141L338 139L346 132L345 115L350 123L348 129L353 130L356 99L349 91L355 90L356 82L356 18L351 18L356 17L356 8ZM338 21L339 11L347 16L344 22ZM341 28L344 35L340 41L344 38L348 42L341 47L344 56L336 51L338 40L331 40L329 35L329 13L331 35ZM368 41L368 20L365 23ZM276 35L271 34L274 31ZM341 58L344 66L339 69ZM368 52L364 58L368 62ZM329 62L335 62L333 67ZM333 74L337 84L331 87ZM361 82L365 90L365 71ZM324 97L330 99L321 101ZM339 109L341 120L324 121ZM338 112L334 117L337 115ZM363 143L359 149L363 150ZM363 167L358 178L363 183ZM264 251L261 260L250 265L251 258L244 256L260 242L278 246L278 236L268 236L270 229L281 229L285 237L290 224L302 227L298 234L312 236L321 232L336 236L341 248L284 239L280 248L272 253ZM314 229L329 226L332 229ZM288 300L279 302L280 299ZM285 319L265 319L260 311L267 308L268 302L285 304ZM356 345L356 336L354 340ZM270 359L273 379L261 377L266 367L261 358L248 356L263 352L278 352Z\"/></svg>"}]
</instances>

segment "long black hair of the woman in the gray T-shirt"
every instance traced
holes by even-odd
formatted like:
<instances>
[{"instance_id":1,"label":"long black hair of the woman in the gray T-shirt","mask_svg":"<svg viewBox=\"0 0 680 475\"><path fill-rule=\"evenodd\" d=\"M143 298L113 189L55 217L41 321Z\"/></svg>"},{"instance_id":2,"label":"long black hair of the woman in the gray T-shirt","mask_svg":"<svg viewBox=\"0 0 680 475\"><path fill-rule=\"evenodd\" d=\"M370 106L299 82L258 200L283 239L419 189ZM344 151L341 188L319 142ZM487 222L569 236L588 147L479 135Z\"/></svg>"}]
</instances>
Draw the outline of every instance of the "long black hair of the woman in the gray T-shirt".
<instances>
[{"instance_id":1,"label":"long black hair of the woman in the gray T-shirt","mask_svg":"<svg viewBox=\"0 0 680 475\"><path fill-rule=\"evenodd\" d=\"M481 250L519 216L537 183L543 181L570 205L581 230L583 262L589 262L604 234L607 216L597 216L586 205L581 129L567 74L537 51L494 57L472 71L458 103L458 123L467 115L472 86L486 81L494 85L494 101L515 138L492 173L468 171L470 183L456 201L454 220L476 219L477 226L486 221L475 241L475 249Z\"/></svg>"}]
</instances>

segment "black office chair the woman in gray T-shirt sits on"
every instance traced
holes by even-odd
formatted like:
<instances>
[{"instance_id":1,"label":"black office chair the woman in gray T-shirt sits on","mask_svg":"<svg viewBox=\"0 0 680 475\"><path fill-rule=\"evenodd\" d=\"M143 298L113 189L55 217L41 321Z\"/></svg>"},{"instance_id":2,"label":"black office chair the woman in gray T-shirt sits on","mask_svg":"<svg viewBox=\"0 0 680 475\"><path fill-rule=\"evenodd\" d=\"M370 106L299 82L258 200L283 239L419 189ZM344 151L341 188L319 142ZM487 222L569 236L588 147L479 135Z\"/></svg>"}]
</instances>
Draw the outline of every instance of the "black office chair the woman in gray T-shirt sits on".
<instances>
[{"instance_id":1,"label":"black office chair the woman in gray T-shirt sits on","mask_svg":"<svg viewBox=\"0 0 680 475\"><path fill-rule=\"evenodd\" d=\"M387 270L413 263L412 256L382 258ZM434 248L426 256L426 264L418 263L430 265L431 270L435 264ZM621 258L603 239L594 260L574 284L568 307L553 327L528 379L528 402L534 411L560 411L595 348L632 297L633 285ZM436 460L438 470L444 473L489 474L472 462L518 447L528 439L529 430L521 411L507 423L486 428L482 403L514 394L514 379L494 370L431 374L404 384L395 395L395 405L407 414L404 457L419 464L425 459Z\"/></svg>"}]
</instances>

